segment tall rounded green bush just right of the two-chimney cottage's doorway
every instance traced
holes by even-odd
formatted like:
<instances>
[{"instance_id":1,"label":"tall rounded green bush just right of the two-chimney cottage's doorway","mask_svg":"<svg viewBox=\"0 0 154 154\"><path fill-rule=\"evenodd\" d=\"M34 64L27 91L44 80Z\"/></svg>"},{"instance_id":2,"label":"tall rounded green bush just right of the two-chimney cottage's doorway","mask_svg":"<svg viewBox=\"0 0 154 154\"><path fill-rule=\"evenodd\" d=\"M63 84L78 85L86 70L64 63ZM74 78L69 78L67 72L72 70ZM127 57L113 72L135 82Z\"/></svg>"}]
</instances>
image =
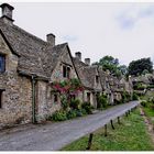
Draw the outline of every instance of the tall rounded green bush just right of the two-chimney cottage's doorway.
<instances>
[{"instance_id":1,"label":"tall rounded green bush just right of the two-chimney cottage's doorway","mask_svg":"<svg viewBox=\"0 0 154 154\"><path fill-rule=\"evenodd\" d=\"M105 95L98 97L98 109L106 108L108 106L108 99Z\"/></svg>"}]
</instances>

